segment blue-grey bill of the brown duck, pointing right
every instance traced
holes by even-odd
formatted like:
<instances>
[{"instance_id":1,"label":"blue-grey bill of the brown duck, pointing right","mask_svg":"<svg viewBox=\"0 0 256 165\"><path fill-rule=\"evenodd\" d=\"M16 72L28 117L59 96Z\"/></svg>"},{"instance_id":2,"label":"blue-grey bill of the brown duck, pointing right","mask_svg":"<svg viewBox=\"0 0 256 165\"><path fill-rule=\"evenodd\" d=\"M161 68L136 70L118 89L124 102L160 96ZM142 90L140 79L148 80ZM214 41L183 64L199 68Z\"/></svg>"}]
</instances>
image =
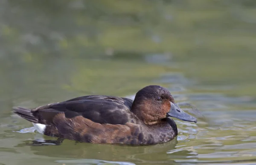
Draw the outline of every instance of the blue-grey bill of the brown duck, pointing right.
<instances>
[{"instance_id":1,"label":"blue-grey bill of the brown duck, pointing right","mask_svg":"<svg viewBox=\"0 0 256 165\"><path fill-rule=\"evenodd\" d=\"M197 123L197 119L190 114L187 114L186 112L182 111L180 107L177 104L171 103L171 109L167 113L168 117L175 117L177 119L186 121L186 122L195 122Z\"/></svg>"}]
</instances>

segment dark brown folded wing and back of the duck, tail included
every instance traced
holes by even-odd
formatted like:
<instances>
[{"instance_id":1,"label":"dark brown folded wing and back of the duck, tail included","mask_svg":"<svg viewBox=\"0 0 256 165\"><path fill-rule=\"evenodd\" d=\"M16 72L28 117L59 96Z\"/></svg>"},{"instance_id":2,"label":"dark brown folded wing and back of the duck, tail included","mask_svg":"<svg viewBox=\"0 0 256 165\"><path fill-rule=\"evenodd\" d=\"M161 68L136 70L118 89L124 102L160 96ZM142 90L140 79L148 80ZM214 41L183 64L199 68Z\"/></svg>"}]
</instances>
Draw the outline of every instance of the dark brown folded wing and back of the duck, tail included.
<instances>
[{"instance_id":1,"label":"dark brown folded wing and back of the duck, tail included","mask_svg":"<svg viewBox=\"0 0 256 165\"><path fill-rule=\"evenodd\" d=\"M83 96L44 105L31 111L15 108L15 113L35 123L50 125L56 114L66 118L82 116L99 124L125 124L131 119L132 100L121 97ZM26 112L26 113L25 113Z\"/></svg>"}]
</instances>

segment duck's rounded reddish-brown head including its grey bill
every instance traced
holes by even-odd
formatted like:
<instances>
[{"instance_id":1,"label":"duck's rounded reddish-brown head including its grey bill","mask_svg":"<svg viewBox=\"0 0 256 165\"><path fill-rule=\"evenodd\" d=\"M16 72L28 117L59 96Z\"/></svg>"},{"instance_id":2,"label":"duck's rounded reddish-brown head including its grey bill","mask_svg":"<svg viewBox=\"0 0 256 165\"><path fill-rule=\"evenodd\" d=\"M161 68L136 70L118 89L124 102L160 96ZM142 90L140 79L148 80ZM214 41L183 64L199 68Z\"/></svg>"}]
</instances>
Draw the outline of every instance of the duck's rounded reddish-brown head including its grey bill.
<instances>
[{"instance_id":1,"label":"duck's rounded reddish-brown head including its grey bill","mask_svg":"<svg viewBox=\"0 0 256 165\"><path fill-rule=\"evenodd\" d=\"M131 110L145 124L151 125L166 117L175 117L187 122L197 119L175 104L172 94L159 85L149 85L137 92Z\"/></svg>"}]
</instances>

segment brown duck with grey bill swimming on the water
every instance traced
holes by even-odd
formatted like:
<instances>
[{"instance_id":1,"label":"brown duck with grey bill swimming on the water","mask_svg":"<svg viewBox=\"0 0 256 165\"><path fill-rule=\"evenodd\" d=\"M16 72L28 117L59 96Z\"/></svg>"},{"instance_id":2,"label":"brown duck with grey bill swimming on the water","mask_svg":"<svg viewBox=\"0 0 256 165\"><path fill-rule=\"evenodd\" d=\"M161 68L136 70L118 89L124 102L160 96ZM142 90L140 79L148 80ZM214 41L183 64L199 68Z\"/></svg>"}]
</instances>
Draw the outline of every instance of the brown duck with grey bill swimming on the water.
<instances>
[{"instance_id":1,"label":"brown duck with grey bill swimming on the water","mask_svg":"<svg viewBox=\"0 0 256 165\"><path fill-rule=\"evenodd\" d=\"M197 122L175 103L160 85L140 89L134 100L125 97L87 95L38 108L13 108L32 122L38 133L76 142L154 145L168 142L177 134L171 118Z\"/></svg>"}]
</instances>

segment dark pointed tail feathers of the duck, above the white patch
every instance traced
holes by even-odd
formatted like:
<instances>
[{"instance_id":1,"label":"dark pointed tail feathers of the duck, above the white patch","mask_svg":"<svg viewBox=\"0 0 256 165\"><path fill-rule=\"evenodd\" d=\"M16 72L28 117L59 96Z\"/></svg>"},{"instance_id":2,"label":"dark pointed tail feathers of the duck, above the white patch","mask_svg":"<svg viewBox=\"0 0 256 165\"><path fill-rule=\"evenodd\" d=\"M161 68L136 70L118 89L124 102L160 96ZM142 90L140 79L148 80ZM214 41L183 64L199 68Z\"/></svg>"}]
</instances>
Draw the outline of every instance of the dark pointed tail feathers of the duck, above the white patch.
<instances>
[{"instance_id":1,"label":"dark pointed tail feathers of the duck, above the white patch","mask_svg":"<svg viewBox=\"0 0 256 165\"><path fill-rule=\"evenodd\" d=\"M19 115L23 119L26 119L33 123L38 123L38 119L33 115L30 109L17 107L17 108L13 108L13 110L15 114Z\"/></svg>"}]
</instances>

